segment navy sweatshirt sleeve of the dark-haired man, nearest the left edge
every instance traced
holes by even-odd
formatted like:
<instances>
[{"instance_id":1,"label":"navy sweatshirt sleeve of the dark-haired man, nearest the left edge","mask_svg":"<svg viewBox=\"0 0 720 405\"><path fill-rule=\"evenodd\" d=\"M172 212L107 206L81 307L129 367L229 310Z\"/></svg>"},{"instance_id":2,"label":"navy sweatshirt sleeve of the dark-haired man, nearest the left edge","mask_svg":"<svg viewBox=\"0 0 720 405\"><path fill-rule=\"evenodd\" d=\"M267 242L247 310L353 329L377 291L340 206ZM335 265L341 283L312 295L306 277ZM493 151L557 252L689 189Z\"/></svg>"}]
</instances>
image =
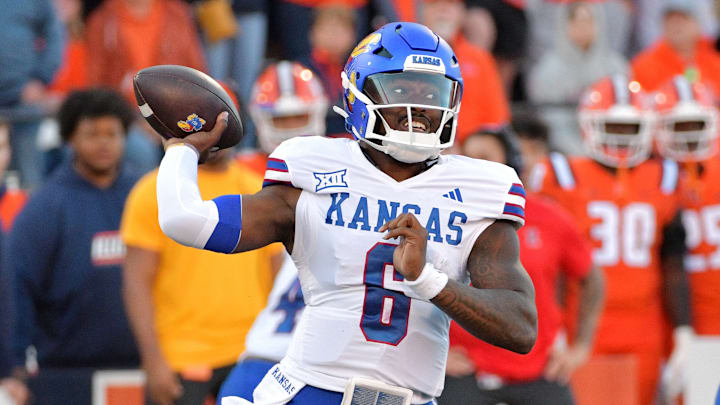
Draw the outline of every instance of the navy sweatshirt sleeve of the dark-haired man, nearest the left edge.
<instances>
[{"instance_id":1,"label":"navy sweatshirt sleeve of the dark-haired man, nearest the left edge","mask_svg":"<svg viewBox=\"0 0 720 405\"><path fill-rule=\"evenodd\" d=\"M13 366L25 364L36 328L36 303L43 296L43 280L57 251L60 215L53 211L49 198L33 196L8 236L6 263L15 277Z\"/></svg>"}]
</instances>

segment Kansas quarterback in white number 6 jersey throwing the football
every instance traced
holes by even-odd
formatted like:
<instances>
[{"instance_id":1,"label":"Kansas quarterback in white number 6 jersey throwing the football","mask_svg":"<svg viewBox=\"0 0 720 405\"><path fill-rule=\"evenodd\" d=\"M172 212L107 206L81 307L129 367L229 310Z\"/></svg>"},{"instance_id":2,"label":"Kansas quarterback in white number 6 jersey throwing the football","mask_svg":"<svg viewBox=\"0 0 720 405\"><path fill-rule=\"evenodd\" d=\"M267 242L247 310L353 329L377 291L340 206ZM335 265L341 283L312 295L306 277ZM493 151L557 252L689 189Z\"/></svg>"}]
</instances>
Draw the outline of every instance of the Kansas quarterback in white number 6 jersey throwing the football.
<instances>
[{"instance_id":1,"label":"Kansas quarterback in white number 6 jersey throwing the football","mask_svg":"<svg viewBox=\"0 0 720 405\"><path fill-rule=\"evenodd\" d=\"M340 111L359 141L284 142L255 195L198 193L198 157L227 113L167 144L158 206L168 236L226 253L280 241L298 268L307 306L288 353L236 403L339 405L347 389L348 403L374 390L429 404L442 392L450 318L516 352L535 341L517 174L440 156L462 95L452 49L422 25L391 23L355 48L342 79Z\"/></svg>"}]
</instances>

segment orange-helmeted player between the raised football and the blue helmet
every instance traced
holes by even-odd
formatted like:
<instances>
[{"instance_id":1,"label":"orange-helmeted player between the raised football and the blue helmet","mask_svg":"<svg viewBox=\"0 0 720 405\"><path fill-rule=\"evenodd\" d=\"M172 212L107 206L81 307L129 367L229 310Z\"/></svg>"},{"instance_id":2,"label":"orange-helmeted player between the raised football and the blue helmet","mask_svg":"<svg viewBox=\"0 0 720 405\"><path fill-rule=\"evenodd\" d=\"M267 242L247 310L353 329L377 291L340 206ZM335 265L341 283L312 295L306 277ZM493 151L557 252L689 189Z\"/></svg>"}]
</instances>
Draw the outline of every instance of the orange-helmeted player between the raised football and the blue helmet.
<instances>
[{"instance_id":1,"label":"orange-helmeted player between the raised football and the blue helmet","mask_svg":"<svg viewBox=\"0 0 720 405\"><path fill-rule=\"evenodd\" d=\"M238 155L238 161L265 175L267 157L282 141L295 136L325 135L328 101L312 70L297 62L268 66L255 81L250 116L260 150Z\"/></svg>"}]
</instances>

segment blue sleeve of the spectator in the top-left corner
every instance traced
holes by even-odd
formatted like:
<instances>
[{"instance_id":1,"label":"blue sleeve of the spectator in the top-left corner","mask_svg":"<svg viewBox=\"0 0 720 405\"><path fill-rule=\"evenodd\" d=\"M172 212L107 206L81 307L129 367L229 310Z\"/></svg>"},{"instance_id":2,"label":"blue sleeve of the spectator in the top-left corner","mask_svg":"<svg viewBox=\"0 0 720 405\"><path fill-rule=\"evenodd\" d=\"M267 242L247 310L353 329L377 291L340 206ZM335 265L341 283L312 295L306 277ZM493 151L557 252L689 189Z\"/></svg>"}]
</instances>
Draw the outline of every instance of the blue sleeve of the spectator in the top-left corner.
<instances>
[{"instance_id":1,"label":"blue sleeve of the spectator in the top-left corner","mask_svg":"<svg viewBox=\"0 0 720 405\"><path fill-rule=\"evenodd\" d=\"M41 9L45 10L45 18L37 35L45 41L45 46L35 60L33 76L49 84L55 78L55 73L62 63L65 51L65 28L57 16L53 2L43 0L40 3L43 3Z\"/></svg>"}]
</instances>

